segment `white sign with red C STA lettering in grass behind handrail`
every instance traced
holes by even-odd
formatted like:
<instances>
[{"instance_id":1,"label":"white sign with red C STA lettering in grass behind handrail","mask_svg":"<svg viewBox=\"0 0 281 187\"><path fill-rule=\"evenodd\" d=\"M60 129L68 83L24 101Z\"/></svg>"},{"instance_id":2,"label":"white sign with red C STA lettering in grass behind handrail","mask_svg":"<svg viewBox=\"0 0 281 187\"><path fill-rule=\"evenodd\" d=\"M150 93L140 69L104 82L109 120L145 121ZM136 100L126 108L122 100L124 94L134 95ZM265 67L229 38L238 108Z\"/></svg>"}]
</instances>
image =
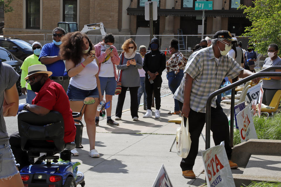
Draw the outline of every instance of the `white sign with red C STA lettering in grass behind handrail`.
<instances>
[{"instance_id":1,"label":"white sign with red C STA lettering in grass behind handrail","mask_svg":"<svg viewBox=\"0 0 281 187\"><path fill-rule=\"evenodd\" d=\"M250 105L239 112L236 118L239 127L241 142L247 141L249 139L258 139L253 123Z\"/></svg>"}]
</instances>

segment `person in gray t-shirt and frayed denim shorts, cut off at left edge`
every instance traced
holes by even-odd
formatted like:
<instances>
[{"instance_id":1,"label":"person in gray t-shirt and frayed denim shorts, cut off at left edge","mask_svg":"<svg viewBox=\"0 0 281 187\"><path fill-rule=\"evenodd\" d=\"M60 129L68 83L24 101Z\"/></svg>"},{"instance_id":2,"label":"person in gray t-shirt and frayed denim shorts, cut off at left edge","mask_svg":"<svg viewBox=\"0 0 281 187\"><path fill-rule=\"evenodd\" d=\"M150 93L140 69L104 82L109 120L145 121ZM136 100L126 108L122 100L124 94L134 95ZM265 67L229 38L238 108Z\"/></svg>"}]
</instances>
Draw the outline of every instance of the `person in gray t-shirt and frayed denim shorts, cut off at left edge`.
<instances>
[{"instance_id":1,"label":"person in gray t-shirt and frayed denim shorts, cut off at left edge","mask_svg":"<svg viewBox=\"0 0 281 187\"><path fill-rule=\"evenodd\" d=\"M4 120L4 117L16 116L18 112L18 77L13 67L0 62L0 186L23 186Z\"/></svg>"}]
</instances>

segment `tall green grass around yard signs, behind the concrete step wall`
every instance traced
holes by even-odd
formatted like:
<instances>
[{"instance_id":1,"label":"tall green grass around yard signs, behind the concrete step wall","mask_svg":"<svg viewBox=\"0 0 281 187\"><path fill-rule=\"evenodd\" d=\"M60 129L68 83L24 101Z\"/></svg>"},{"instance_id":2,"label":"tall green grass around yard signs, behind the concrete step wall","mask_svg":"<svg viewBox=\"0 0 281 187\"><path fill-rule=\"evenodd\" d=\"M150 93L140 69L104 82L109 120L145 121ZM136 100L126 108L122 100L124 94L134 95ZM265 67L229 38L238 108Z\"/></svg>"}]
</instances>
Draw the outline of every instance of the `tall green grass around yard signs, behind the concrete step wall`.
<instances>
[{"instance_id":1,"label":"tall green grass around yard signs, behind the concrete step wall","mask_svg":"<svg viewBox=\"0 0 281 187\"><path fill-rule=\"evenodd\" d=\"M281 140L281 113L273 117L253 117L258 139ZM239 130L234 130L233 144L241 143Z\"/></svg>"}]
</instances>

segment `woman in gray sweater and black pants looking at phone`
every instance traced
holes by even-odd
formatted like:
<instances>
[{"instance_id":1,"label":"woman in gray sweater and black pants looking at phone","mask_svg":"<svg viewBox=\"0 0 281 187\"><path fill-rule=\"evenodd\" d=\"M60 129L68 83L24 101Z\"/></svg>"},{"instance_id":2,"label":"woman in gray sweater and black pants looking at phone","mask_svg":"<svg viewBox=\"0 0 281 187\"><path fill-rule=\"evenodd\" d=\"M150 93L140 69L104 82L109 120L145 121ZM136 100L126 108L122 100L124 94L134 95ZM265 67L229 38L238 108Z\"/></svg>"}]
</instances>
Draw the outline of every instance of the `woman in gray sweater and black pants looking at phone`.
<instances>
[{"instance_id":1,"label":"woman in gray sweater and black pants looking at phone","mask_svg":"<svg viewBox=\"0 0 281 187\"><path fill-rule=\"evenodd\" d=\"M133 39L127 39L122 45L122 49L124 51L119 56L120 64L117 65L117 69L121 70L117 78L120 81L121 77L121 93L118 95L115 120L121 120L126 91L129 88L131 116L133 121L138 121L138 87L140 86L138 69L143 67L143 60L140 53L136 52L137 46Z\"/></svg>"}]
</instances>

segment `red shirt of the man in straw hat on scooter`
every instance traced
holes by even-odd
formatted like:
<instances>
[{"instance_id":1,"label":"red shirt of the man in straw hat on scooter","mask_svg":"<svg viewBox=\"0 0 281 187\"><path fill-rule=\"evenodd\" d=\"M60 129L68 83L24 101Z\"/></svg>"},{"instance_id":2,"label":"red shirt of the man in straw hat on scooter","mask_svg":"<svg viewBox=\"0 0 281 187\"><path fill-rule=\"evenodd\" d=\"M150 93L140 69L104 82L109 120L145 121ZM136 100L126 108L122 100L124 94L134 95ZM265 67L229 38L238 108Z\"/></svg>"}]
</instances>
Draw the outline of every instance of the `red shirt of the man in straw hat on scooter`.
<instances>
[{"instance_id":1,"label":"red shirt of the man in straw hat on scooter","mask_svg":"<svg viewBox=\"0 0 281 187\"><path fill-rule=\"evenodd\" d=\"M63 87L51 79L47 79L36 97L32 100L32 105L42 106L48 110L55 110L61 113L64 118L64 142L73 142L76 135L76 127L72 117L72 110L68 96Z\"/></svg>"}]
</instances>

